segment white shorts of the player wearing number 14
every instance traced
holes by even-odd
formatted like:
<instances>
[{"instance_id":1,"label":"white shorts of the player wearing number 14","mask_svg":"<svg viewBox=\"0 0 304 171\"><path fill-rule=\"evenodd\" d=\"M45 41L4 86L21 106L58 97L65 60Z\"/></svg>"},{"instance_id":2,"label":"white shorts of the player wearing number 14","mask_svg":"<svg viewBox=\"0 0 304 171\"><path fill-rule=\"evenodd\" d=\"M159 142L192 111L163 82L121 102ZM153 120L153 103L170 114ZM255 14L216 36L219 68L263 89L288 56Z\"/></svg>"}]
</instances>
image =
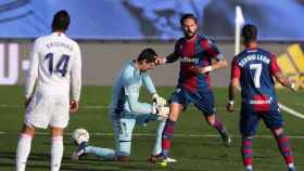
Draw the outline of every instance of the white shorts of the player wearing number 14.
<instances>
[{"instance_id":1,"label":"white shorts of the player wearing number 14","mask_svg":"<svg viewBox=\"0 0 304 171\"><path fill-rule=\"evenodd\" d=\"M25 124L35 128L66 128L69 119L68 96L36 93L26 108Z\"/></svg>"}]
</instances>

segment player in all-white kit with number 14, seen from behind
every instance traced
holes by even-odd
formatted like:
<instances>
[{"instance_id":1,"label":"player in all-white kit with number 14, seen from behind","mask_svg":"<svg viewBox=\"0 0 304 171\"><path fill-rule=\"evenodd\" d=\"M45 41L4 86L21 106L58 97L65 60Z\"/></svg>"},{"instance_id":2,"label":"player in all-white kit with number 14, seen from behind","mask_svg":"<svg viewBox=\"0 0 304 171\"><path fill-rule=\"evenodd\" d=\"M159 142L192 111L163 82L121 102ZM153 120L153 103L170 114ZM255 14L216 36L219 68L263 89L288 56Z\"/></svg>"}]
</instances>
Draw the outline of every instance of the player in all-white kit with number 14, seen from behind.
<instances>
[{"instance_id":1,"label":"player in all-white kit with number 14, seen from behind","mask_svg":"<svg viewBox=\"0 0 304 171\"><path fill-rule=\"evenodd\" d=\"M51 128L51 171L59 171L63 156L63 131L69 111L78 110L81 89L81 56L78 44L65 36L66 11L52 21L52 34L36 39L26 78L26 114L16 149L16 171L24 171L35 129ZM72 96L69 98L69 87Z\"/></svg>"}]
</instances>

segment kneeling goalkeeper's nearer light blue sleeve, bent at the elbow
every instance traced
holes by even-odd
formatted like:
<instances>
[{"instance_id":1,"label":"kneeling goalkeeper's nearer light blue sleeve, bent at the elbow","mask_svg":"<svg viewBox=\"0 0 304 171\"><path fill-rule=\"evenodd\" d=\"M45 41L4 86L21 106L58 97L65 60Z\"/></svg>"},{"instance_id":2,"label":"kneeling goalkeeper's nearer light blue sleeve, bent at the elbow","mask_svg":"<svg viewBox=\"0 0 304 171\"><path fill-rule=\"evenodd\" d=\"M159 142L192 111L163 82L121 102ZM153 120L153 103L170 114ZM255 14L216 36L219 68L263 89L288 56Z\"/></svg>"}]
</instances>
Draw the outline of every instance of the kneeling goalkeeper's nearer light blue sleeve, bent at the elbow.
<instances>
[{"instance_id":1,"label":"kneeling goalkeeper's nearer light blue sleeve, bent at the elbow","mask_svg":"<svg viewBox=\"0 0 304 171\"><path fill-rule=\"evenodd\" d=\"M124 73L123 77L125 94L127 96L127 103L132 113L136 114L151 114L152 105L138 102L139 86L134 82L135 78L129 73Z\"/></svg>"}]
</instances>

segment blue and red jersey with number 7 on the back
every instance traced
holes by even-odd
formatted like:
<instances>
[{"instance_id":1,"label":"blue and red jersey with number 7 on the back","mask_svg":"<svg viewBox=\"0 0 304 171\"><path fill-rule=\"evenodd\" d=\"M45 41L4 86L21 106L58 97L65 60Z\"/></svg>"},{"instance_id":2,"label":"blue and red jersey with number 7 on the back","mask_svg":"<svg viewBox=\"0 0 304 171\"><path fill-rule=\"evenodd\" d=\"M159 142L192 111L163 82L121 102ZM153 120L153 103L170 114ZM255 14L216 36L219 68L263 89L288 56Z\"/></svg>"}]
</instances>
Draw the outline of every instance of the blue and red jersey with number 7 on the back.
<instances>
[{"instance_id":1,"label":"blue and red jersey with number 7 on the back","mask_svg":"<svg viewBox=\"0 0 304 171\"><path fill-rule=\"evenodd\" d=\"M255 111L278 107L273 78L278 71L280 68L273 52L263 49L246 49L235 56L231 79L240 80L243 107Z\"/></svg>"}]
</instances>

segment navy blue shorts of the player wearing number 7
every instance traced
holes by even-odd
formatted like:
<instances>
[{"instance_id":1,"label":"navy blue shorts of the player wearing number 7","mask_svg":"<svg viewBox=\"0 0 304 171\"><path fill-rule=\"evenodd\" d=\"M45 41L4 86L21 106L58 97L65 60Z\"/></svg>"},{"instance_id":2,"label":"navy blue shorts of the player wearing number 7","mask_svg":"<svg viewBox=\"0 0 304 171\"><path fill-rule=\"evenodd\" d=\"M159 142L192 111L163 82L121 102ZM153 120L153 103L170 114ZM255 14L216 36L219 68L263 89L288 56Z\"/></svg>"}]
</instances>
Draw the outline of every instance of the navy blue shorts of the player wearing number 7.
<instances>
[{"instance_id":1,"label":"navy blue shorts of the player wearing number 7","mask_svg":"<svg viewBox=\"0 0 304 171\"><path fill-rule=\"evenodd\" d=\"M276 130L283 127L282 115L279 110L252 111L241 109L240 131L243 136L252 136L256 134L259 120L263 119L266 127Z\"/></svg>"}]
</instances>

